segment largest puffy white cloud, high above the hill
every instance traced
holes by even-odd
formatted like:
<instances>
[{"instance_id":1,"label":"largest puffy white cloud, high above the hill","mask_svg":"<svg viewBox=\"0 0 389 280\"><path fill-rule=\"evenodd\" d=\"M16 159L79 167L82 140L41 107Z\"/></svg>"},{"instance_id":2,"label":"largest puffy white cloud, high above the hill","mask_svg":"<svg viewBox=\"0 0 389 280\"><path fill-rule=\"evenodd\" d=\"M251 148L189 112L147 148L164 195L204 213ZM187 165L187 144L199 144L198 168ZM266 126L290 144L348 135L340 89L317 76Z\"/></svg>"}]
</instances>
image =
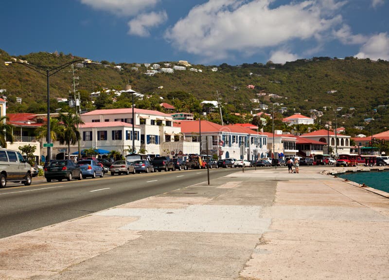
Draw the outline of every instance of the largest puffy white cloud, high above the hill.
<instances>
[{"instance_id":1,"label":"largest puffy white cloud, high above the hill","mask_svg":"<svg viewBox=\"0 0 389 280\"><path fill-rule=\"evenodd\" d=\"M306 0L270 8L274 0L209 0L170 28L165 37L179 50L212 59L231 52L258 53L299 39L320 40L342 22L345 1Z\"/></svg>"}]
</instances>

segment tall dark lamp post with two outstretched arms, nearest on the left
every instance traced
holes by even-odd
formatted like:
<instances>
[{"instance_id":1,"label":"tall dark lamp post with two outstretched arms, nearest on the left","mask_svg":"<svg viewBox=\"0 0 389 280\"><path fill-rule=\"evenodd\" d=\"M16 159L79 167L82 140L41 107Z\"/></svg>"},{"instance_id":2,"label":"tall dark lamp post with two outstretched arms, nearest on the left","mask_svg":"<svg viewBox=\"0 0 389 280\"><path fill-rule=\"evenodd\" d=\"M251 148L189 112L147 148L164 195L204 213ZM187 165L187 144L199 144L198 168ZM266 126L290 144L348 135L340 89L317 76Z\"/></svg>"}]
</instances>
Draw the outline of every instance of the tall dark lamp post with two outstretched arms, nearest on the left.
<instances>
[{"instance_id":1,"label":"tall dark lamp post with two outstretched arms, nearest on the left","mask_svg":"<svg viewBox=\"0 0 389 280\"><path fill-rule=\"evenodd\" d=\"M37 72L41 75L44 75L46 77L46 81L47 81L47 137L46 137L46 140L47 140L47 161L48 162L50 162L50 160L52 159L52 146L53 146L53 144L51 143L52 139L51 139L51 127L50 127L50 83L49 83L49 77L58 73L62 69L68 67L69 65L71 65L75 62L80 62L80 61L83 61L84 63L91 62L91 60L89 60L89 59L77 59L77 60L67 62L65 64L59 65L59 66L51 68L51 69L49 69L49 68L43 69L43 68L40 68L38 66L31 65L31 64L28 64L25 62L17 62L17 61L5 61L4 62L4 64L6 66L8 66L10 64L14 64L14 63L21 64L21 65L23 65L27 68L30 68L31 70L34 70L35 72Z\"/></svg>"}]
</instances>

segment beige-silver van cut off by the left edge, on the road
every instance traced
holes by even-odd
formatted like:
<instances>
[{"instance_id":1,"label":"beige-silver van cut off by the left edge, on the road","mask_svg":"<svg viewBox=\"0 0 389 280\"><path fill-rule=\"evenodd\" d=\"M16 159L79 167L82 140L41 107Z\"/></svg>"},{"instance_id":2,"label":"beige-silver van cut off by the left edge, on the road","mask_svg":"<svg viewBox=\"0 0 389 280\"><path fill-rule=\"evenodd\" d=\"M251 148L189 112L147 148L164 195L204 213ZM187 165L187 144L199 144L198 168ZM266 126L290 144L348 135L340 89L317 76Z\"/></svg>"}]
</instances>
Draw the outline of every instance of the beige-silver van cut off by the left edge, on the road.
<instances>
[{"instance_id":1,"label":"beige-silver van cut off by the left edge, on the road","mask_svg":"<svg viewBox=\"0 0 389 280\"><path fill-rule=\"evenodd\" d=\"M30 186L31 178L31 166L18 151L0 149L0 187L6 187L7 182Z\"/></svg>"}]
</instances>

